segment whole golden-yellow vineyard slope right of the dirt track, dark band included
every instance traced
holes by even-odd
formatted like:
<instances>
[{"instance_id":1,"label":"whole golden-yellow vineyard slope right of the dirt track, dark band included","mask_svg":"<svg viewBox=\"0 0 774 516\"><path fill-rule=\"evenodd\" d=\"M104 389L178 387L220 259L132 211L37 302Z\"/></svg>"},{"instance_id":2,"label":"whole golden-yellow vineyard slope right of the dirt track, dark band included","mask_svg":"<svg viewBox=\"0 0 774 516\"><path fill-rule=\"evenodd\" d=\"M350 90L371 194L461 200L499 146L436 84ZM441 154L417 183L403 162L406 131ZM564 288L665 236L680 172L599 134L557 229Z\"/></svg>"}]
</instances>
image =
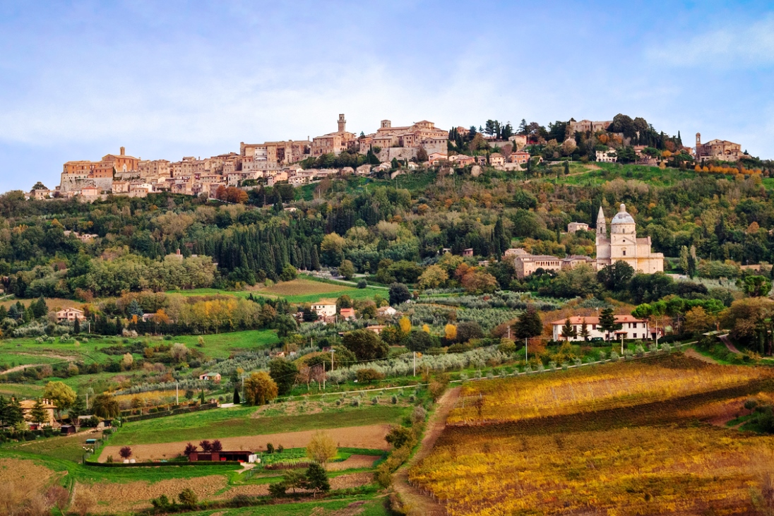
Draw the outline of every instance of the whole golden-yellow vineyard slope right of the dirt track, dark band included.
<instances>
[{"instance_id":1,"label":"whole golden-yellow vineyard slope right of the dirt track, dark band included","mask_svg":"<svg viewBox=\"0 0 774 516\"><path fill-rule=\"evenodd\" d=\"M697 385L697 373L714 381ZM622 381L611 383L618 374ZM770 397L768 375L669 356L553 378L567 386L543 375L466 385L465 408L450 416L455 425L409 480L430 490L451 516L755 511L770 478L774 437L724 423L747 412L741 402L748 395ZM580 398L584 383L599 399ZM483 395L481 416L475 407L467 412L476 391ZM522 391L528 397L493 401ZM519 402L528 406L521 410Z\"/></svg>"}]
</instances>

